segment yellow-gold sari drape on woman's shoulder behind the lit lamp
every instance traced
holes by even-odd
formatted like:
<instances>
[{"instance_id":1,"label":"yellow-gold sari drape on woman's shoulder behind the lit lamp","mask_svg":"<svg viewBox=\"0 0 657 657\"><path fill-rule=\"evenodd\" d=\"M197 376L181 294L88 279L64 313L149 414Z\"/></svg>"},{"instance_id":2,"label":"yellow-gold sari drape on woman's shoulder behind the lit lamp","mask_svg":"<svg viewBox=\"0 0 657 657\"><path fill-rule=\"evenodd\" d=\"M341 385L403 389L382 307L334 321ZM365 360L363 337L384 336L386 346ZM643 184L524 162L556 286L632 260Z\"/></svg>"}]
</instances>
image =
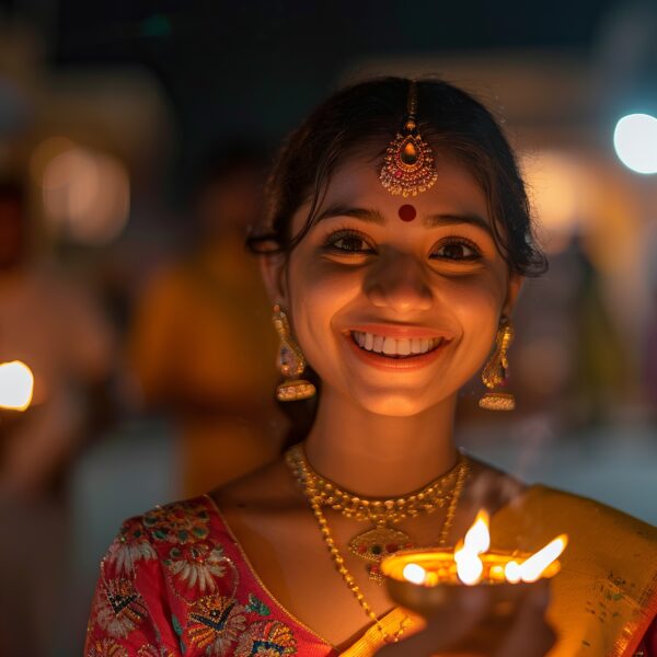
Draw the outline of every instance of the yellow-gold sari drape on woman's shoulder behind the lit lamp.
<instances>
[{"instance_id":1,"label":"yellow-gold sari drape on woman's shoulder behind the lit lamp","mask_svg":"<svg viewBox=\"0 0 657 657\"><path fill-rule=\"evenodd\" d=\"M569 537L552 580L548 619L557 634L550 657L631 657L657 614L657 529L597 502L531 486L492 518L493 550L535 552ZM382 619L393 633L400 609ZM414 619L417 631L422 621ZM408 632L408 631L407 631ZM371 627L343 657L369 657L382 646Z\"/></svg>"}]
</instances>

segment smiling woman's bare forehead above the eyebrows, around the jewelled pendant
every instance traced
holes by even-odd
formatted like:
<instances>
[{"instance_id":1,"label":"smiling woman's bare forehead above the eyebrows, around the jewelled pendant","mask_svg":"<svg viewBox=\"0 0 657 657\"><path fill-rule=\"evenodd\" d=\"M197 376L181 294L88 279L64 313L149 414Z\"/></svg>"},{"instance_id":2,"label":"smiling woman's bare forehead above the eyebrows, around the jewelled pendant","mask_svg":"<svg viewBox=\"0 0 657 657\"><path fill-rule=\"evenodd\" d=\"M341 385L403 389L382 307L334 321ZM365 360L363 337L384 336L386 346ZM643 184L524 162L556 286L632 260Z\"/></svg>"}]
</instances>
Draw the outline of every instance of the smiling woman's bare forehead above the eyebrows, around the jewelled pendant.
<instances>
[{"instance_id":1,"label":"smiling woman's bare forehead above the eyebrows, around the jewelled pendant","mask_svg":"<svg viewBox=\"0 0 657 657\"><path fill-rule=\"evenodd\" d=\"M336 201L376 208L395 215L404 204L418 212L471 212L488 219L486 196L470 171L453 158L436 159L438 178L417 196L393 196L379 180L380 163L353 158L341 165L328 182L321 206ZM488 219L489 220L489 219Z\"/></svg>"}]
</instances>

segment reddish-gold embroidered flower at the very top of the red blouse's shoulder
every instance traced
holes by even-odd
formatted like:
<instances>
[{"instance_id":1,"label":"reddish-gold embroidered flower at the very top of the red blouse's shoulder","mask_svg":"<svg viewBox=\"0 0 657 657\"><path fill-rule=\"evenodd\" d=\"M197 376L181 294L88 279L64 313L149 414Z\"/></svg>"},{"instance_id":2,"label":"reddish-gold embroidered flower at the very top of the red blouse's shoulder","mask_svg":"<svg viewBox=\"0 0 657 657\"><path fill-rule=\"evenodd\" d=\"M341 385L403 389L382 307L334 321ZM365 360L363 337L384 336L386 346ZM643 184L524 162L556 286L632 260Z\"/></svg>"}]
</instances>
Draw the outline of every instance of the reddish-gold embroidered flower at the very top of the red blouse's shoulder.
<instances>
[{"instance_id":1,"label":"reddish-gold embroidered flower at the very top of the red blouse's shoulder","mask_svg":"<svg viewBox=\"0 0 657 657\"><path fill-rule=\"evenodd\" d=\"M210 516L198 503L178 502L143 515L143 526L159 541L192 543L208 537Z\"/></svg>"}]
</instances>

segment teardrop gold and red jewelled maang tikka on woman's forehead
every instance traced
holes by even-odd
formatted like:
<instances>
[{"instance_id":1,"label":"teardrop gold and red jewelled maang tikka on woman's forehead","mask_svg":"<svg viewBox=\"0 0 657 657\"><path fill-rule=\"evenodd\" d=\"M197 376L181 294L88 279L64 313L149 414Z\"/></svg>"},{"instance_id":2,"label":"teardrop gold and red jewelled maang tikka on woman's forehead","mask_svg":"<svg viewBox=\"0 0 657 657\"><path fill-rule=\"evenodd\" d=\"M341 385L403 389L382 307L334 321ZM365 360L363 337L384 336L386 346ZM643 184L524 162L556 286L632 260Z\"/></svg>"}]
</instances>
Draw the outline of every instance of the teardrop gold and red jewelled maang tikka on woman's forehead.
<instances>
[{"instance_id":1,"label":"teardrop gold and red jewelled maang tikka on woman's forehead","mask_svg":"<svg viewBox=\"0 0 657 657\"><path fill-rule=\"evenodd\" d=\"M404 127L388 146L379 174L385 189L404 197L426 192L438 177L431 148L417 129L417 85L410 84Z\"/></svg>"}]
</instances>

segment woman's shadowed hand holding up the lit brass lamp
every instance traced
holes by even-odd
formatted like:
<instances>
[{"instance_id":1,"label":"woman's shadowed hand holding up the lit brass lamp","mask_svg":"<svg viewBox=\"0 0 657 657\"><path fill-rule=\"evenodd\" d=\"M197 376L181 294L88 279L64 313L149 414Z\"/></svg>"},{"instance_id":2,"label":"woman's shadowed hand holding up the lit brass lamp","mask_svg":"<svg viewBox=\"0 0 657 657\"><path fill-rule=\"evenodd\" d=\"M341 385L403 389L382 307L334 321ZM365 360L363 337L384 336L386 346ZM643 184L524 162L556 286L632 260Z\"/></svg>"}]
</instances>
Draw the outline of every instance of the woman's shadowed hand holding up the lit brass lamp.
<instances>
[{"instance_id":1,"label":"woman's shadowed hand holding up the lit brass lamp","mask_svg":"<svg viewBox=\"0 0 657 657\"><path fill-rule=\"evenodd\" d=\"M377 657L543 657L555 634L545 621L549 581L532 586L515 610L494 612L493 588L463 587L458 604L428 620L426 627Z\"/></svg>"}]
</instances>

